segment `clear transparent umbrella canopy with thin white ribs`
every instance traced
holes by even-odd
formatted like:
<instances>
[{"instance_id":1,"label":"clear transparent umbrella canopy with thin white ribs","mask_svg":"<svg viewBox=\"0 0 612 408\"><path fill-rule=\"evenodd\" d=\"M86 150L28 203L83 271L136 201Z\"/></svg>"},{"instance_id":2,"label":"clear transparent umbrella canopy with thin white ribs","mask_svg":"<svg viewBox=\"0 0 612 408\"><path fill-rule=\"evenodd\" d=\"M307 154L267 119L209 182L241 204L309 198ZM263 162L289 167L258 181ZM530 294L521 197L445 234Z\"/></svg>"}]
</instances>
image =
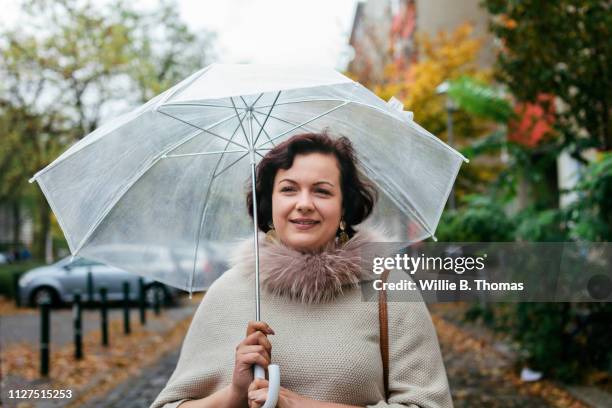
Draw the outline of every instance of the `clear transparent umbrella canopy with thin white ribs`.
<instances>
[{"instance_id":1,"label":"clear transparent umbrella canopy with thin white ribs","mask_svg":"<svg viewBox=\"0 0 612 408\"><path fill-rule=\"evenodd\" d=\"M251 163L304 132L350 138L380 200L368 222L433 236L465 158L338 72L214 64L69 148L36 180L71 252L203 290L208 243L253 232ZM160 267L160 256L173 267Z\"/></svg>"}]
</instances>

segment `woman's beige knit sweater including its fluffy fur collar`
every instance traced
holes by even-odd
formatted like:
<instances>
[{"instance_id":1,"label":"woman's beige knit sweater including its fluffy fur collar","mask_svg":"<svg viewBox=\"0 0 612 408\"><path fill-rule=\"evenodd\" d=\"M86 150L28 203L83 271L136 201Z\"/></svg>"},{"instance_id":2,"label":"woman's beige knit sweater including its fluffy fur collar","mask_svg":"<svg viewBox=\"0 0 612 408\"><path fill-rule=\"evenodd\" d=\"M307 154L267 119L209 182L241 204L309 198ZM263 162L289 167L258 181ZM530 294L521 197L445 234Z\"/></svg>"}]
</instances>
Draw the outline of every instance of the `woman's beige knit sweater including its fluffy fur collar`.
<instances>
[{"instance_id":1,"label":"woman's beige knit sweater including its fluffy fur collar","mask_svg":"<svg viewBox=\"0 0 612 408\"><path fill-rule=\"evenodd\" d=\"M378 303L362 300L360 285L371 282L354 262L355 250L372 239L358 233L347 250L332 249L325 256L263 241L261 315L276 332L268 338L281 386L361 407L452 407L438 339L422 302L388 303L390 397L385 401ZM202 300L176 369L152 408L174 408L231 382L235 346L255 319L252 252L241 254ZM290 279L304 273L315 278L298 280L300 290ZM406 279L393 275L390 280Z\"/></svg>"}]
</instances>

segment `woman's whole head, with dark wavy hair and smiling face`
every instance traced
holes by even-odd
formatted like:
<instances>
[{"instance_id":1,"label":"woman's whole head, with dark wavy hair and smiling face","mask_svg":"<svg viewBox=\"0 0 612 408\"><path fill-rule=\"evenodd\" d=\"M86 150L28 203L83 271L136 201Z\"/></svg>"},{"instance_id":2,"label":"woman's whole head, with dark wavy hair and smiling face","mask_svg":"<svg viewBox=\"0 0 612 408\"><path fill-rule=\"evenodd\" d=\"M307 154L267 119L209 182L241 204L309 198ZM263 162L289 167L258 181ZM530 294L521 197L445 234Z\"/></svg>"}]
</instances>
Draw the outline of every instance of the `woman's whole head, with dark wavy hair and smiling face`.
<instances>
[{"instance_id":1,"label":"woman's whole head, with dark wavy hair and smiling face","mask_svg":"<svg viewBox=\"0 0 612 408\"><path fill-rule=\"evenodd\" d=\"M302 252L321 250L372 212L374 187L359 177L350 141L326 134L297 135L258 166L259 228ZM251 194L247 208L252 214Z\"/></svg>"}]
</instances>

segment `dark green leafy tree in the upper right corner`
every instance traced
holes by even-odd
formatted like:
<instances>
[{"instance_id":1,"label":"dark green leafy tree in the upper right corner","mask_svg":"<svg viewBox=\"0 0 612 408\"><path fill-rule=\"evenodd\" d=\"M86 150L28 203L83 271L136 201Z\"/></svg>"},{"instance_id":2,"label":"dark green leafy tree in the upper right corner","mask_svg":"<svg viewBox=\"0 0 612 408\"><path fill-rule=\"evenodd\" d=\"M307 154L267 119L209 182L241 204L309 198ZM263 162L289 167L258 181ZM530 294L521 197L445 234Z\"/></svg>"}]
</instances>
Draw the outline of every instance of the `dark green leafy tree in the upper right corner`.
<instances>
[{"instance_id":1,"label":"dark green leafy tree in the upper right corner","mask_svg":"<svg viewBox=\"0 0 612 408\"><path fill-rule=\"evenodd\" d=\"M555 95L559 149L612 149L612 13L606 0L485 0L501 39L497 77L519 101ZM554 154L554 153L553 153Z\"/></svg>"}]
</instances>

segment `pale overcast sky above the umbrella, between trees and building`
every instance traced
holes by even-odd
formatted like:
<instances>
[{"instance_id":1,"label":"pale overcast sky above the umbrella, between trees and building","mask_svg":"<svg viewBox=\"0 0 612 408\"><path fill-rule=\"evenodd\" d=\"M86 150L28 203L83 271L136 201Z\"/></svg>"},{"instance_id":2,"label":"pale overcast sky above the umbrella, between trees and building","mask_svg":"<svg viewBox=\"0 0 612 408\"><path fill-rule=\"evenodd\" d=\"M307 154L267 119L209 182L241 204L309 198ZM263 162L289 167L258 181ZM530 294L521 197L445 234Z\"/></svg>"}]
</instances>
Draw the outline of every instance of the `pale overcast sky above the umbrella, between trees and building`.
<instances>
[{"instance_id":1,"label":"pale overcast sky above the umbrella, between trees and building","mask_svg":"<svg viewBox=\"0 0 612 408\"><path fill-rule=\"evenodd\" d=\"M17 17L14 1L0 0L3 17ZM155 0L138 0L141 7ZM357 0L178 0L197 30L217 33L217 62L324 65L344 69Z\"/></svg>"}]
</instances>

